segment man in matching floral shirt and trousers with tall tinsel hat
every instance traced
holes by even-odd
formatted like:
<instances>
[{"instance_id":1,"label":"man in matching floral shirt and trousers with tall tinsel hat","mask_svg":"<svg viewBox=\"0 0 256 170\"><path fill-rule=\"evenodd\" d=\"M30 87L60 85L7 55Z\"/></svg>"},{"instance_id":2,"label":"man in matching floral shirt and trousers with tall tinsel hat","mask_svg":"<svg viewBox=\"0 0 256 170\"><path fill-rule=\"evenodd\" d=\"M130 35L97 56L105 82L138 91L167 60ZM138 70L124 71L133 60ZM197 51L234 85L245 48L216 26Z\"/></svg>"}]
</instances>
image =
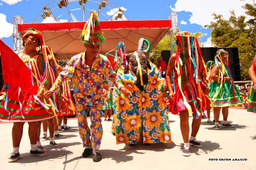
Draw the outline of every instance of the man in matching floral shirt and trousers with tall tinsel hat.
<instances>
[{"instance_id":1,"label":"man in matching floral shirt and trousers with tall tinsel hat","mask_svg":"<svg viewBox=\"0 0 256 170\"><path fill-rule=\"evenodd\" d=\"M92 35L94 36L92 37ZM57 91L62 81L72 77L79 134L85 148L82 156L89 157L91 152L93 152L93 161L99 162L102 159L99 147L103 134L101 125L103 76L110 77L114 85L126 97L129 98L131 92L125 89L120 80L118 80L108 59L98 54L99 44L103 43L105 38L102 35L95 12L91 12L89 20L86 22L86 26L84 26L81 38L86 51L70 59L56 79L55 84L47 92L47 97ZM87 124L87 112L90 112L91 116L91 129Z\"/></svg>"}]
</instances>

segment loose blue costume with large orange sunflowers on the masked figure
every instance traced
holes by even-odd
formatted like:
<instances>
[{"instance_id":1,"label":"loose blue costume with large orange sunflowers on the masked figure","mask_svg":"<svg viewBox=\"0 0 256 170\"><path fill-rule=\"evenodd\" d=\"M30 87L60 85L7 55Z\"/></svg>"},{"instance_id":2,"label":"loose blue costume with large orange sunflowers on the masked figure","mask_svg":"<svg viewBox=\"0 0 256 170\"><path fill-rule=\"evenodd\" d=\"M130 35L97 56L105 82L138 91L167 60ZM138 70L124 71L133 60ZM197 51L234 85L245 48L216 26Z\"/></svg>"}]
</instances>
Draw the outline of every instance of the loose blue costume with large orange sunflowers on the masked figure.
<instances>
[{"instance_id":1,"label":"loose blue costume with large orange sunflowers on the masked figure","mask_svg":"<svg viewBox=\"0 0 256 170\"><path fill-rule=\"evenodd\" d=\"M136 77L130 71L124 74L124 66L117 72L124 87L132 92L131 98L125 98L116 88L113 92L112 130L116 134L117 144L137 144L141 132L143 143L171 142L162 77L157 67L151 62L150 65L151 70L147 70L148 84L143 91L136 86Z\"/></svg>"}]
</instances>

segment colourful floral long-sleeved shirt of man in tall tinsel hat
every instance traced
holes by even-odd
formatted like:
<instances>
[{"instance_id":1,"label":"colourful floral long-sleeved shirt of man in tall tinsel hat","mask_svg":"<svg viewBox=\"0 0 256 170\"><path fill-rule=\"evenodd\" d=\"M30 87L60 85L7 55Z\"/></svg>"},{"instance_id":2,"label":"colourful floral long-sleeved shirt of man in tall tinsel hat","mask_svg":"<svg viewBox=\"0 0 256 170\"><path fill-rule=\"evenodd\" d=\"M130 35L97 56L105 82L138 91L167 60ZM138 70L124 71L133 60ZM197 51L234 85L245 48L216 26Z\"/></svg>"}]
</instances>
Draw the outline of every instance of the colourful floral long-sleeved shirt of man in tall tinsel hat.
<instances>
[{"instance_id":1,"label":"colourful floral long-sleeved shirt of man in tall tinsel hat","mask_svg":"<svg viewBox=\"0 0 256 170\"><path fill-rule=\"evenodd\" d=\"M72 77L75 100L84 98L86 99L86 105L92 106L93 104L102 103L104 75L110 77L118 89L123 85L121 80L118 80L117 74L113 71L107 57L97 54L90 68L85 63L85 53L86 51L70 59L50 90L56 92L63 80Z\"/></svg>"}]
</instances>

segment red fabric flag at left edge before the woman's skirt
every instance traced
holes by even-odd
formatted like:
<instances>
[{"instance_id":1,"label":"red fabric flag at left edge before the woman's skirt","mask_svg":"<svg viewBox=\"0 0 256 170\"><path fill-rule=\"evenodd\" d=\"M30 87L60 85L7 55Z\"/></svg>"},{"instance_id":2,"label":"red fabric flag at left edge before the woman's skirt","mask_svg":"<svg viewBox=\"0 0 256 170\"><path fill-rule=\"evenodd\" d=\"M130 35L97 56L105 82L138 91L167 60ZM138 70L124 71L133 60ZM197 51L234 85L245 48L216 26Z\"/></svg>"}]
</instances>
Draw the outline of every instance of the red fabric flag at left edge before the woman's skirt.
<instances>
[{"instance_id":1,"label":"red fabric flag at left edge before the woman's skirt","mask_svg":"<svg viewBox=\"0 0 256 170\"><path fill-rule=\"evenodd\" d=\"M33 85L32 74L19 56L0 39L0 55L4 82L18 85L21 90L37 94L38 86Z\"/></svg>"}]
</instances>

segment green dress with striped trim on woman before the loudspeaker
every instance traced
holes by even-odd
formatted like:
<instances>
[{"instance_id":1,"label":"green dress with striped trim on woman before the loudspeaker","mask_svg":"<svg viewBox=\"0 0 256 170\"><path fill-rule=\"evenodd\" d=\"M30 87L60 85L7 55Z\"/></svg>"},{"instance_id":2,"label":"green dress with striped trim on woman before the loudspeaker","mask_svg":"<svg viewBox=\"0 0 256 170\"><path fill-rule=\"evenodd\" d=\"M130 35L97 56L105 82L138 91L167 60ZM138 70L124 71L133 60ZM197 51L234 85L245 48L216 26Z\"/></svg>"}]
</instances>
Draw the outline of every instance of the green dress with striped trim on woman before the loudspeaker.
<instances>
[{"instance_id":1,"label":"green dress with striped trim on woman before the loudspeaker","mask_svg":"<svg viewBox=\"0 0 256 170\"><path fill-rule=\"evenodd\" d=\"M227 72L223 71L223 76L230 75L230 71L225 66ZM217 65L217 70L219 73L219 66ZM219 75L221 76L221 75ZM231 77L232 78L232 77ZM222 85L221 82L218 81L211 81L208 85L210 89L209 98L212 100L214 107L227 107L233 105L241 105L244 103L244 99L242 98L239 90L232 81L223 81Z\"/></svg>"}]
</instances>

